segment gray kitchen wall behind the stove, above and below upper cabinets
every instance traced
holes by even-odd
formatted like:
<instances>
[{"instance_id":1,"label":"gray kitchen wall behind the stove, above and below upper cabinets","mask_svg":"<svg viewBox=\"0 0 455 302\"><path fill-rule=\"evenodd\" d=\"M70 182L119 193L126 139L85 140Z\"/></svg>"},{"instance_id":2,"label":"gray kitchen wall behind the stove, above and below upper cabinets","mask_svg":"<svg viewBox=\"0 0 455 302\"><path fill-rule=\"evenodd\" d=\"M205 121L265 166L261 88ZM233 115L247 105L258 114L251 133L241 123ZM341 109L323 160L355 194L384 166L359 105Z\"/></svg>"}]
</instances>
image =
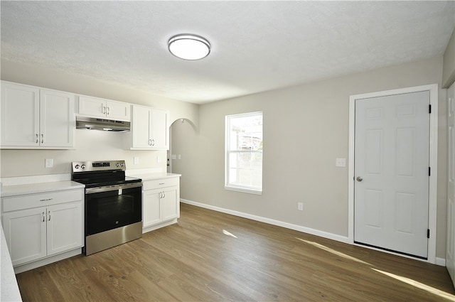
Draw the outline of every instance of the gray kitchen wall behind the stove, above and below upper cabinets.
<instances>
[{"instance_id":1,"label":"gray kitchen wall behind the stove, above and below upper cabinets","mask_svg":"<svg viewBox=\"0 0 455 302\"><path fill-rule=\"evenodd\" d=\"M184 118L198 124L196 104L157 97L93 77L1 60L1 80L168 109L171 123ZM138 164L134 164L134 156L139 157ZM156 157L160 158L160 163ZM53 158L53 168L45 168L45 158ZM117 159L124 159L129 169L161 168L166 171L166 151L129 151L124 149L122 133L75 130L74 150L0 150L0 177L70 173L71 161Z\"/></svg>"}]
</instances>

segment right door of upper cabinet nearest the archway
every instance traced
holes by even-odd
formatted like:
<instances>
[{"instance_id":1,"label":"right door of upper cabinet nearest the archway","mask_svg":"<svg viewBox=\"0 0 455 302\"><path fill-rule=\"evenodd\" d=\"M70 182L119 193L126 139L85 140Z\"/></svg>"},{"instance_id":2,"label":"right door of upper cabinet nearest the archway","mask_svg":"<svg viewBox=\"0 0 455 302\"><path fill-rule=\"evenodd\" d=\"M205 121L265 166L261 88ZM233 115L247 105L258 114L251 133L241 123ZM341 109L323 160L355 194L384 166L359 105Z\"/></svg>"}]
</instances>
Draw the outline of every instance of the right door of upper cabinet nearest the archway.
<instances>
[{"instance_id":1,"label":"right door of upper cabinet nearest the archway","mask_svg":"<svg viewBox=\"0 0 455 302\"><path fill-rule=\"evenodd\" d=\"M161 109L151 109L152 149L169 149L169 112Z\"/></svg>"}]
</instances>

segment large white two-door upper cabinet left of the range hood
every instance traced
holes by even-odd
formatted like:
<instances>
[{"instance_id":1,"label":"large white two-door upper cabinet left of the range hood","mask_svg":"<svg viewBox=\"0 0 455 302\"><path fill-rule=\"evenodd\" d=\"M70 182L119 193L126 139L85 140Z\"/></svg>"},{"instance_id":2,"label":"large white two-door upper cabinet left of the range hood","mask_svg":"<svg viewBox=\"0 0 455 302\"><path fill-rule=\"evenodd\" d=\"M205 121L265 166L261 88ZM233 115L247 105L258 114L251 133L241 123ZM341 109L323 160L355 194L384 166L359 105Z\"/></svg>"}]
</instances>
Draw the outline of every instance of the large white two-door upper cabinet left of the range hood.
<instances>
[{"instance_id":1,"label":"large white two-door upper cabinet left of the range hood","mask_svg":"<svg viewBox=\"0 0 455 302\"><path fill-rule=\"evenodd\" d=\"M1 82L1 149L71 149L75 95Z\"/></svg>"}]
</instances>

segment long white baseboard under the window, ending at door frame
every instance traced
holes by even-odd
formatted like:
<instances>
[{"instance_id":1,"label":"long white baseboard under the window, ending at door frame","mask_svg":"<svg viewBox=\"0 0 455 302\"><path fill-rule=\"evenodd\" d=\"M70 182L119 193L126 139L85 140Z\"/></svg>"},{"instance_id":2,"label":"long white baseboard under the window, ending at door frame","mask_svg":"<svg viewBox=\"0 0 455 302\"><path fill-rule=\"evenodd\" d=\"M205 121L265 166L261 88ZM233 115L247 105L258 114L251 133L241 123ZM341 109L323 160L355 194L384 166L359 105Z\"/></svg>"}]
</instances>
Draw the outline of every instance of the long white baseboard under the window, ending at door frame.
<instances>
[{"instance_id":1,"label":"long white baseboard under the window, ending at door frame","mask_svg":"<svg viewBox=\"0 0 455 302\"><path fill-rule=\"evenodd\" d=\"M213 205L206 205L205 203L197 203L196 201L186 200L186 199L182 199L182 198L180 199L180 202L181 203L187 203L188 205L196 205L196 207L204 207L205 209L208 209L208 210L214 210L214 211L217 211L217 212L223 212L223 213L226 213L226 214L247 218L247 219L250 219L250 220L256 220L256 221L259 221L259 222L265 222L265 223L268 223L269 225L277 225L278 227L285 227L285 228L290 229L290 230L304 232L304 233L307 233L307 234L312 234L312 235L316 235L316 236L319 236L319 237L336 240L338 242L349 243L348 237L344 237L344 236L337 235L337 234L332 234L332 233L329 233L329 232L323 232L323 231L319 231L319 230L314 230L314 229L311 229L309 227L302 227L301 225L293 225L293 224L288 223L288 222L282 222L282 221L279 221L279 220L273 220L273 219L266 218L266 217L260 217L260 216L256 216L256 215L251 215L251 214L247 214L247 213L244 213L244 212L237 212L237 211L234 211L234 210L228 210L228 209L225 209L223 207L215 207Z\"/></svg>"}]
</instances>

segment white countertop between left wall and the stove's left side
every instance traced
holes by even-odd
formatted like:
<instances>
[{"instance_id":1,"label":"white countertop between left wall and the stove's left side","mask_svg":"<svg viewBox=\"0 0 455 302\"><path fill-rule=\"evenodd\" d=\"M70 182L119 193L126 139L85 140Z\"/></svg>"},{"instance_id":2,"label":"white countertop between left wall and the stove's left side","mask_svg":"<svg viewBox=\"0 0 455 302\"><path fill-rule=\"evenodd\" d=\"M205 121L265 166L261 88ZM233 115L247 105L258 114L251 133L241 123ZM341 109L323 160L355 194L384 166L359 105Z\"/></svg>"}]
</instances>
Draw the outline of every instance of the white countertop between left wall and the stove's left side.
<instances>
[{"instance_id":1,"label":"white countertop between left wall and the stove's left side","mask_svg":"<svg viewBox=\"0 0 455 302\"><path fill-rule=\"evenodd\" d=\"M0 196L6 197L79 188L85 188L85 185L82 183L76 183L73 180L53 181L48 183L29 183L24 185L3 185Z\"/></svg>"}]
</instances>

